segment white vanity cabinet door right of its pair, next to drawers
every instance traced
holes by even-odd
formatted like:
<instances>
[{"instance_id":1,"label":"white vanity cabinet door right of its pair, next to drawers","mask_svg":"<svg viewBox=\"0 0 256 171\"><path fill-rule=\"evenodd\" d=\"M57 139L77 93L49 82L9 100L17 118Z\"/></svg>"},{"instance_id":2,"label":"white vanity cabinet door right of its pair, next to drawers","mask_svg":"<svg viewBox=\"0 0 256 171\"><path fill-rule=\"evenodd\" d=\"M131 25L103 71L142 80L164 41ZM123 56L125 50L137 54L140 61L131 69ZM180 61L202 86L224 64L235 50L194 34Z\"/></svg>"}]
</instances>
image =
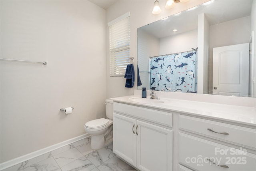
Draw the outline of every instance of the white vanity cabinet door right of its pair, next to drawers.
<instances>
[{"instance_id":1,"label":"white vanity cabinet door right of its pair, next to drawers","mask_svg":"<svg viewBox=\"0 0 256 171\"><path fill-rule=\"evenodd\" d=\"M172 130L137 120L137 168L172 171Z\"/></svg>"}]
</instances>

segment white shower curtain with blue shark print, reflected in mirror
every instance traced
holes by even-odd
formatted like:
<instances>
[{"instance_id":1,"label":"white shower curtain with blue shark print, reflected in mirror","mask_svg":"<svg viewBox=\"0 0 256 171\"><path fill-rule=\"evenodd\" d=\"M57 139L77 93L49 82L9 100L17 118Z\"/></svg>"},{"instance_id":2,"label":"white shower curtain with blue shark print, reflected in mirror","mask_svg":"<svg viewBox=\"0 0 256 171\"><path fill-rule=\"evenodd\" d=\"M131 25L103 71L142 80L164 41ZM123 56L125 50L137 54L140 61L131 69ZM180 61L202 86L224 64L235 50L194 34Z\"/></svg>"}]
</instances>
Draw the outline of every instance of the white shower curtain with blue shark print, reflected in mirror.
<instances>
[{"instance_id":1,"label":"white shower curtain with blue shark print, reflected in mirror","mask_svg":"<svg viewBox=\"0 0 256 171\"><path fill-rule=\"evenodd\" d=\"M150 58L150 87L196 93L197 51Z\"/></svg>"}]
</instances>

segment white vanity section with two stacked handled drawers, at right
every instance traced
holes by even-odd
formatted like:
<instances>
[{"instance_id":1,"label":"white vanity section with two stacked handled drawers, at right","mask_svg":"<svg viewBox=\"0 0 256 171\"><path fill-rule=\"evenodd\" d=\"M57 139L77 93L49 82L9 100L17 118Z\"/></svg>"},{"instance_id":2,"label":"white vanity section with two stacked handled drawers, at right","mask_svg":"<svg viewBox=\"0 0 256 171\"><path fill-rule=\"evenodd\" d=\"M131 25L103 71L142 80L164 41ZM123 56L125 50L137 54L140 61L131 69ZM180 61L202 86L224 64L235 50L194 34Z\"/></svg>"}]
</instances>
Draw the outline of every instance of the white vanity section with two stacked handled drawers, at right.
<instances>
[{"instance_id":1,"label":"white vanity section with two stacked handled drawers, at right","mask_svg":"<svg viewBox=\"0 0 256 171\"><path fill-rule=\"evenodd\" d=\"M178 115L180 171L255 171L255 151L256 129Z\"/></svg>"}]
</instances>

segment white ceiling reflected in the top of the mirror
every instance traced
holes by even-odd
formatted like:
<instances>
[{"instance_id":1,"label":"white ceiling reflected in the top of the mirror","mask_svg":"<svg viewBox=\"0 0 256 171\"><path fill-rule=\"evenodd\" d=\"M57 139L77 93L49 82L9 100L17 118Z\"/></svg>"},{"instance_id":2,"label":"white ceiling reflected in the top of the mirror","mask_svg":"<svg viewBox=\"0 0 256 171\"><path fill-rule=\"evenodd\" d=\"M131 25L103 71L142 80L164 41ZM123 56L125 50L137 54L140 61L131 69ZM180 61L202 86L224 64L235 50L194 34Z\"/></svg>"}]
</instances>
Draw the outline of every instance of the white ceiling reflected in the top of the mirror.
<instances>
[{"instance_id":1,"label":"white ceiling reflected in the top of the mirror","mask_svg":"<svg viewBox=\"0 0 256 171\"><path fill-rule=\"evenodd\" d=\"M141 28L157 38L164 38L197 29L198 14L204 13L210 25L250 16L252 1L214 0L210 4L206 2L207 5L199 5L193 10L183 11L179 15L172 15L166 20L159 20ZM173 32L174 29L178 32Z\"/></svg>"}]
</instances>

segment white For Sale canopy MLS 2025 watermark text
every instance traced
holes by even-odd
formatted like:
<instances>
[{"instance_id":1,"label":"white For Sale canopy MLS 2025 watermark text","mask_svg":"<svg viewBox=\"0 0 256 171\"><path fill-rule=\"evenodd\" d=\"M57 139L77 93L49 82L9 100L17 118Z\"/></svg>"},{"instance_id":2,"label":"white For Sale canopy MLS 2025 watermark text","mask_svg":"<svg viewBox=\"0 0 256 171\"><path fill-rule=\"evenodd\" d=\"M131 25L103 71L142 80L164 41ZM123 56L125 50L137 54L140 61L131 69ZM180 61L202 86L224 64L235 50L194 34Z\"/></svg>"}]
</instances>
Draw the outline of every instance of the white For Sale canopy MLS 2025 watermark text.
<instances>
[{"instance_id":1,"label":"white For Sale canopy MLS 2025 watermark text","mask_svg":"<svg viewBox=\"0 0 256 171\"><path fill-rule=\"evenodd\" d=\"M222 149L215 147L214 155L216 155L216 157L203 157L202 155L198 155L197 157L186 157L185 161L186 163L196 163L196 166L204 166L204 163L210 163L210 165L228 167L227 165L245 165L247 161L244 155L246 154L247 150L242 149L242 147L240 147L240 149ZM227 157L219 157L223 155Z\"/></svg>"}]
</instances>

